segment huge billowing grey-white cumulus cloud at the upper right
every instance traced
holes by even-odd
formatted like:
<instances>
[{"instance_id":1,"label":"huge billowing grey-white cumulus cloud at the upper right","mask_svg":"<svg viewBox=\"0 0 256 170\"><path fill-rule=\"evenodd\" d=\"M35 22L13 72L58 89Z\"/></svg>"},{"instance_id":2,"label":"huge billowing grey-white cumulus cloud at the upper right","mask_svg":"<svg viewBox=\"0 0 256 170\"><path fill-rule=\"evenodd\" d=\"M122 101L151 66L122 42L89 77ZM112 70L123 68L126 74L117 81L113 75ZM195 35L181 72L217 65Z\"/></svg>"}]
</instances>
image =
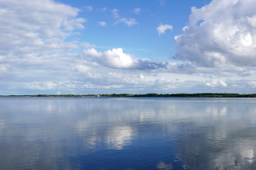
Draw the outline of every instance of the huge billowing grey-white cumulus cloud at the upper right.
<instances>
[{"instance_id":1,"label":"huge billowing grey-white cumulus cloud at the upper right","mask_svg":"<svg viewBox=\"0 0 256 170\"><path fill-rule=\"evenodd\" d=\"M178 53L172 59L216 72L248 73L256 66L255 1L213 0L192 7L189 26L175 36Z\"/></svg>"}]
</instances>

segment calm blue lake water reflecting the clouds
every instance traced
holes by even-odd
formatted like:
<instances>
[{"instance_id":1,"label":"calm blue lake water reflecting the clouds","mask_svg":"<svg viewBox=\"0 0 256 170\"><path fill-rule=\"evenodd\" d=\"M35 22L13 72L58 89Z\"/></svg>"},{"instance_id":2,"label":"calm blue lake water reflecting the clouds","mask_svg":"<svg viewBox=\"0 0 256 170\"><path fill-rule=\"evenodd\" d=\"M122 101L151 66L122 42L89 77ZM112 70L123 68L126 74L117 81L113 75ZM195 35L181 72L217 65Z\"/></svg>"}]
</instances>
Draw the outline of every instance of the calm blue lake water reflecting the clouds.
<instances>
[{"instance_id":1,"label":"calm blue lake water reflecting the clouds","mask_svg":"<svg viewBox=\"0 0 256 170\"><path fill-rule=\"evenodd\" d=\"M0 97L0 169L255 169L255 153L255 99Z\"/></svg>"}]
</instances>

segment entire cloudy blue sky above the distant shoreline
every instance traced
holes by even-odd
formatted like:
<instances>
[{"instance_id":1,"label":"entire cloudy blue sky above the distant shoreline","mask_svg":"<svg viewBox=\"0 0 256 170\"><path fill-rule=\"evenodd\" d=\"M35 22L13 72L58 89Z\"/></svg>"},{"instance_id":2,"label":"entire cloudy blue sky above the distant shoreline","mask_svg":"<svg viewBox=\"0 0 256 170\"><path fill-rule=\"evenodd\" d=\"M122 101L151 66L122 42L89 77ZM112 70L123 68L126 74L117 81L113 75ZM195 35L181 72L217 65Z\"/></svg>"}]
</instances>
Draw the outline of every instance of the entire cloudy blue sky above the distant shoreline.
<instances>
[{"instance_id":1,"label":"entire cloudy blue sky above the distant shoreline","mask_svg":"<svg viewBox=\"0 0 256 170\"><path fill-rule=\"evenodd\" d=\"M0 0L0 95L255 93L254 0Z\"/></svg>"}]
</instances>

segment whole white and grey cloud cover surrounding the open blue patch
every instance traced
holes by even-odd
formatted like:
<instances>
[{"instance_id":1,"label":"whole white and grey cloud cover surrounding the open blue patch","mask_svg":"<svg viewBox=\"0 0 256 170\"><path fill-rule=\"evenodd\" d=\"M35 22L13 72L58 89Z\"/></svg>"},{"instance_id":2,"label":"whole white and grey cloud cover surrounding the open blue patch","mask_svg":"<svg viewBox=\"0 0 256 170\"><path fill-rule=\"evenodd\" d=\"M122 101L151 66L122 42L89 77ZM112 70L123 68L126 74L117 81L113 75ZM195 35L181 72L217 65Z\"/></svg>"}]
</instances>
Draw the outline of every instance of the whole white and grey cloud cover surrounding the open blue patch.
<instances>
[{"instance_id":1,"label":"whole white and grey cloud cover surrounding the open blue patch","mask_svg":"<svg viewBox=\"0 0 256 170\"><path fill-rule=\"evenodd\" d=\"M254 78L230 77L254 75L255 3L219 0L192 8L189 26L175 37L178 53L157 60L74 39L88 23L78 8L50 0L2 0L0 93L254 92ZM138 24L118 12L112 10L116 23ZM158 34L167 29L172 26L160 25Z\"/></svg>"}]
</instances>

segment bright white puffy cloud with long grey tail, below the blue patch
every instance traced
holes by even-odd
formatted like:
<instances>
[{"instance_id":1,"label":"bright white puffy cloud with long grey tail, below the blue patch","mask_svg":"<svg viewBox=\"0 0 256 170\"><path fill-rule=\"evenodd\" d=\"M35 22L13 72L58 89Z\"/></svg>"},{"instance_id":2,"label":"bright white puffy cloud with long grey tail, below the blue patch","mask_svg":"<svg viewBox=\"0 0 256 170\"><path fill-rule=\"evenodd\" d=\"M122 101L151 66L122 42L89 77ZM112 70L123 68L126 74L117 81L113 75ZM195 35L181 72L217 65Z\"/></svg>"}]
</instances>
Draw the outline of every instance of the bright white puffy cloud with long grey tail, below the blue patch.
<instances>
[{"instance_id":1,"label":"bright white puffy cloud with long grey tail, below the blue patch","mask_svg":"<svg viewBox=\"0 0 256 170\"><path fill-rule=\"evenodd\" d=\"M86 59L99 63L102 66L129 70L154 70L164 73L195 73L196 71L204 72L193 63L175 63L167 60L150 60L132 57L123 53L123 49L117 48L98 52L95 49L85 49L83 56ZM199 73L201 75L201 73Z\"/></svg>"}]
</instances>

